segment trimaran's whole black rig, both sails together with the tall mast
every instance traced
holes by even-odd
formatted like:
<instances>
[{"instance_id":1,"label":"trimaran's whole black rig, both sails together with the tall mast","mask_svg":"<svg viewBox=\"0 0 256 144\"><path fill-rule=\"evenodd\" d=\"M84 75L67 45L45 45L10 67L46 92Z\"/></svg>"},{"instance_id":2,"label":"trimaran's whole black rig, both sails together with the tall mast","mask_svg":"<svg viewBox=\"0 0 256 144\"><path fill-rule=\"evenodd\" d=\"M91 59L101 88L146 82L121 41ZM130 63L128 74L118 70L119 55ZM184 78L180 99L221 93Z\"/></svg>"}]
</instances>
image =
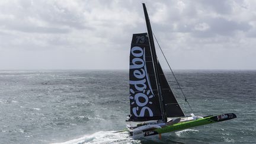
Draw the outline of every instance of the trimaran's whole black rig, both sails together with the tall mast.
<instances>
[{"instance_id":1,"label":"trimaran's whole black rig, both sails together with the tall mast","mask_svg":"<svg viewBox=\"0 0 256 144\"><path fill-rule=\"evenodd\" d=\"M164 72L156 56L151 24L143 4L148 33L133 34L130 50L130 119L131 121L163 120L182 117Z\"/></svg>"}]
</instances>

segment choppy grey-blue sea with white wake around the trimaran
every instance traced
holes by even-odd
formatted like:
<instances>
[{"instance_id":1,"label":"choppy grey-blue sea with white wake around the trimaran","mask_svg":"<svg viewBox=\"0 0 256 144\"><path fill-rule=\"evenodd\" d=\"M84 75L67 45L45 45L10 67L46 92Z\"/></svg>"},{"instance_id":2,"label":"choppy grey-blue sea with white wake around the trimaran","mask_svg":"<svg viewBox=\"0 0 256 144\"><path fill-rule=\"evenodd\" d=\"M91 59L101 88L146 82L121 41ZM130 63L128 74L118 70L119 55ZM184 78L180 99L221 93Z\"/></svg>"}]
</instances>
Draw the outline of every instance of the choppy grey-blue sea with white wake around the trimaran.
<instances>
[{"instance_id":1,"label":"choppy grey-blue sea with white wake around the trimaran","mask_svg":"<svg viewBox=\"0 0 256 144\"><path fill-rule=\"evenodd\" d=\"M0 71L0 143L256 143L256 71L177 70L196 116L237 118L130 139L128 71ZM192 111L165 71L186 115Z\"/></svg>"}]
</instances>

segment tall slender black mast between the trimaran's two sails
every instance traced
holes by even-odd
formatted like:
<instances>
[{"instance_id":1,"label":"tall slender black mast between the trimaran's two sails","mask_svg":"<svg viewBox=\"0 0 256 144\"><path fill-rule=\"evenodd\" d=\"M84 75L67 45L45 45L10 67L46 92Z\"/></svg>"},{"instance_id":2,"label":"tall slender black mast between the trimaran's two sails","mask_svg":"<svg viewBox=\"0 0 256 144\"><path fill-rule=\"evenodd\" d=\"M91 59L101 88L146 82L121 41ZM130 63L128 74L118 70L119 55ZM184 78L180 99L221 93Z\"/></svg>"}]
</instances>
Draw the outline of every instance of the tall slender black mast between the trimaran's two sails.
<instances>
[{"instance_id":1,"label":"tall slender black mast between the trimaran's two sails","mask_svg":"<svg viewBox=\"0 0 256 144\"><path fill-rule=\"evenodd\" d=\"M158 68L158 58L156 57L155 44L154 44L154 41L153 41L153 34L152 34L151 24L150 24L150 21L149 21L148 12L146 10L146 5L144 3L142 5L143 5L145 20L146 20L146 27L147 27L147 30L148 30L149 44L150 44L150 47L151 47L153 67L154 67L154 71L155 71L156 87L158 89L159 103L161 105L162 120L164 120L166 122L167 117L166 117L166 114L165 114L161 84L159 82L160 77L159 77L159 68Z\"/></svg>"}]
</instances>

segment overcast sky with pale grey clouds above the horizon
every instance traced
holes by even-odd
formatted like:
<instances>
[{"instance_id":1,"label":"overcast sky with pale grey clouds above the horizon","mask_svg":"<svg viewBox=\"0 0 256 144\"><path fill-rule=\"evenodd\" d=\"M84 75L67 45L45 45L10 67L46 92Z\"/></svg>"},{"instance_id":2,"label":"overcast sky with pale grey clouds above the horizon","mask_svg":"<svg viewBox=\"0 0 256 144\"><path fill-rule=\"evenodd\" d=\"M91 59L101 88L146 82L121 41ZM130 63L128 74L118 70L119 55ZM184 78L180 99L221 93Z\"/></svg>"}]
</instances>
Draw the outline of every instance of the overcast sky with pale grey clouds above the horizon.
<instances>
[{"instance_id":1,"label":"overcast sky with pale grey clouds above the horizon","mask_svg":"<svg viewBox=\"0 0 256 144\"><path fill-rule=\"evenodd\" d=\"M142 2L1 0L0 69L128 69ZM256 1L145 3L173 69L256 69Z\"/></svg>"}]
</instances>

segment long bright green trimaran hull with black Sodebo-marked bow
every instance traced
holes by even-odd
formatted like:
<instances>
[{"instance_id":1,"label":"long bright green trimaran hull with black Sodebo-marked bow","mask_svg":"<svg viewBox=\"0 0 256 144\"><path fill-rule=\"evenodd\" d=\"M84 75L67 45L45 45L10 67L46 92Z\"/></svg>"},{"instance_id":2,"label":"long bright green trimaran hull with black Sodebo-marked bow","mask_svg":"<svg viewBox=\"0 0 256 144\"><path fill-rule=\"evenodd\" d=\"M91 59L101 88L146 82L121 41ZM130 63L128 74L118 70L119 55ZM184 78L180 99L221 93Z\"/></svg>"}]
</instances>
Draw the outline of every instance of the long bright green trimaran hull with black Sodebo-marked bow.
<instances>
[{"instance_id":1,"label":"long bright green trimaran hull with black Sodebo-marked bow","mask_svg":"<svg viewBox=\"0 0 256 144\"><path fill-rule=\"evenodd\" d=\"M157 135L161 133L168 133L168 132L174 132L177 130L188 129L190 127L202 126L204 124L230 120L234 118L236 118L236 115L233 113L221 114L218 116L207 116L207 117L204 117L203 119L181 122L181 123L172 124L172 125L167 124L166 126L163 126L162 128L158 128L158 129L142 130L142 133L143 133L143 136L151 136L151 135ZM133 133L130 133L130 135L134 136Z\"/></svg>"}]
</instances>

